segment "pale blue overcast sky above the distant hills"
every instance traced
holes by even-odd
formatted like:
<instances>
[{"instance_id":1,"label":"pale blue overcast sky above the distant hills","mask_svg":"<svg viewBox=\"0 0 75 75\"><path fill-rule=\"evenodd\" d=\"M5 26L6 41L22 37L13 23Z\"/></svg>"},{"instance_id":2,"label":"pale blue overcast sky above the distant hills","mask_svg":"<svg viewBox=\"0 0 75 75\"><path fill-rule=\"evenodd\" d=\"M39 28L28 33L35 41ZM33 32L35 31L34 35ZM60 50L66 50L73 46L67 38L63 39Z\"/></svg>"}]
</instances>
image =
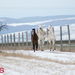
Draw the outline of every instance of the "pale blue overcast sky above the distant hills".
<instances>
[{"instance_id":1,"label":"pale blue overcast sky above the distant hills","mask_svg":"<svg viewBox=\"0 0 75 75\"><path fill-rule=\"evenodd\" d=\"M75 15L75 0L0 0L0 17Z\"/></svg>"}]
</instances>

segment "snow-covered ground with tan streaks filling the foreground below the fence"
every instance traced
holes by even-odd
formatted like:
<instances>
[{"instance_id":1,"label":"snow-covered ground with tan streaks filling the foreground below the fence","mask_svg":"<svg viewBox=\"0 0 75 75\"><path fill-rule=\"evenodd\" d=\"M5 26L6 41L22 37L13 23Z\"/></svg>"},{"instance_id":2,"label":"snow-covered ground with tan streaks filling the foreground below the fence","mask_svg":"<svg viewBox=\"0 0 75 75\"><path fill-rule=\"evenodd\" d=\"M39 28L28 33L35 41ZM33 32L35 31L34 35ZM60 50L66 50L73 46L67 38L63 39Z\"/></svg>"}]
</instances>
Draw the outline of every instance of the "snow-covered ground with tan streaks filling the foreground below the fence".
<instances>
[{"instance_id":1,"label":"snow-covered ground with tan streaks filling the foreground below the fence","mask_svg":"<svg viewBox=\"0 0 75 75\"><path fill-rule=\"evenodd\" d=\"M0 50L23 57L0 56L0 75L75 75L75 53L60 51Z\"/></svg>"}]
</instances>

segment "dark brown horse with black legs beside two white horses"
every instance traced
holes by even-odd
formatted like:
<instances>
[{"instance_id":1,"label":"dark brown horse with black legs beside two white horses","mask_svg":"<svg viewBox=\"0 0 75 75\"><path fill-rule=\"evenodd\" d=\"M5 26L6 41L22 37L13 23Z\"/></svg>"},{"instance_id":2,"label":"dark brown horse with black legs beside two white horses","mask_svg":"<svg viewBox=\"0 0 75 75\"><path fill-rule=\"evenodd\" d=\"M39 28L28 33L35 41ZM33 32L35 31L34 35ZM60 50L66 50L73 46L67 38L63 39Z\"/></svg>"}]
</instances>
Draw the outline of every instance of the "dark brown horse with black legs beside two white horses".
<instances>
[{"instance_id":1,"label":"dark brown horse with black legs beside two white horses","mask_svg":"<svg viewBox=\"0 0 75 75\"><path fill-rule=\"evenodd\" d=\"M36 50L38 49L38 36L35 32L35 29L32 29L32 32L31 32L31 41L33 43L33 50L35 52L35 47L36 47Z\"/></svg>"}]
</instances>

